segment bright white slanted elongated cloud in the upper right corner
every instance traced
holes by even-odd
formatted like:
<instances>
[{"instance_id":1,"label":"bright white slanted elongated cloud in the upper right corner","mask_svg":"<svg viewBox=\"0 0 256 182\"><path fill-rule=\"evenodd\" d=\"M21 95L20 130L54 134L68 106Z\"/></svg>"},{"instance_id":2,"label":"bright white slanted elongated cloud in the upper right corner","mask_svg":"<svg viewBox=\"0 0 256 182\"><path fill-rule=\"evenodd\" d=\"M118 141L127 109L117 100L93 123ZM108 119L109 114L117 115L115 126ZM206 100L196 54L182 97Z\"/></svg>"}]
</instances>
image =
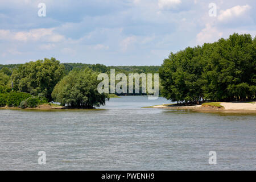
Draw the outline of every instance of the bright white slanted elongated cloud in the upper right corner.
<instances>
[{"instance_id":1,"label":"bright white slanted elongated cloud in the upper right corner","mask_svg":"<svg viewBox=\"0 0 256 182\"><path fill-rule=\"evenodd\" d=\"M249 5L245 6L234 6L231 9L227 9L225 11L220 11L220 15L218 15L218 20L221 22L228 21L230 19L237 18L246 13L246 11L250 10L251 7Z\"/></svg>"}]
</instances>

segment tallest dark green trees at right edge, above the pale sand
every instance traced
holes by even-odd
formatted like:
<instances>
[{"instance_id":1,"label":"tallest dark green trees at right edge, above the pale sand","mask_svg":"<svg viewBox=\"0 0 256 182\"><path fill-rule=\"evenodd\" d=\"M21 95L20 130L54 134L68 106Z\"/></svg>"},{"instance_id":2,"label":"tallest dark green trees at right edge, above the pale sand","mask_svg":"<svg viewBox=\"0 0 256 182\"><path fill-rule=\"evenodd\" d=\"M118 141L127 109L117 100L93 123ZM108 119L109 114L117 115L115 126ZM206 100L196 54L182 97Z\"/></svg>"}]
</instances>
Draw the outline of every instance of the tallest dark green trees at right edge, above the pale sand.
<instances>
[{"instance_id":1,"label":"tallest dark green trees at right edge, above the pale sand","mask_svg":"<svg viewBox=\"0 0 256 182\"><path fill-rule=\"evenodd\" d=\"M214 101L251 100L255 78L255 44L249 34L220 39L204 52L205 97Z\"/></svg>"}]
</instances>

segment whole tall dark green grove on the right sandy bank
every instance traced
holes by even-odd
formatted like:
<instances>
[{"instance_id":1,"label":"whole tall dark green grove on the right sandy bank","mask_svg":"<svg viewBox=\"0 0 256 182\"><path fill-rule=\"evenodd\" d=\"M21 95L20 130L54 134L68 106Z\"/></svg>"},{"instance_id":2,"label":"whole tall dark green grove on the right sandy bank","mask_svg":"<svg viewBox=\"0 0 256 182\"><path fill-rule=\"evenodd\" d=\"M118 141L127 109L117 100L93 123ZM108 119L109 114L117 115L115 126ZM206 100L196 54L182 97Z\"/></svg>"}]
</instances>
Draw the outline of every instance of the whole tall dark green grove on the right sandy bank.
<instances>
[{"instance_id":1,"label":"whole tall dark green grove on the right sandy bank","mask_svg":"<svg viewBox=\"0 0 256 182\"><path fill-rule=\"evenodd\" d=\"M178 104L255 100L255 73L256 37L249 34L171 52L159 70L163 96Z\"/></svg>"}]
</instances>

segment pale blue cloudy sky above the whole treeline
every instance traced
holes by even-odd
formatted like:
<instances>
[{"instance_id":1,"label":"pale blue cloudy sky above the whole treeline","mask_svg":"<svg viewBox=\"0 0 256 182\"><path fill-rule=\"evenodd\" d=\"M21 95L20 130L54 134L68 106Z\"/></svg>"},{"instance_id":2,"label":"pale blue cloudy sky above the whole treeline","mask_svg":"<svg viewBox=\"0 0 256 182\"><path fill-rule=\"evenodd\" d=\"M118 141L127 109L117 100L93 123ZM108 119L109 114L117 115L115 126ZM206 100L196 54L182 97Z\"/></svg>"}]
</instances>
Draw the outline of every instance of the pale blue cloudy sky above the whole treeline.
<instances>
[{"instance_id":1,"label":"pale blue cloudy sky above the whole treeline","mask_svg":"<svg viewBox=\"0 0 256 182\"><path fill-rule=\"evenodd\" d=\"M255 9L254 0L1 0L0 64L161 65L234 32L254 38Z\"/></svg>"}]
</instances>

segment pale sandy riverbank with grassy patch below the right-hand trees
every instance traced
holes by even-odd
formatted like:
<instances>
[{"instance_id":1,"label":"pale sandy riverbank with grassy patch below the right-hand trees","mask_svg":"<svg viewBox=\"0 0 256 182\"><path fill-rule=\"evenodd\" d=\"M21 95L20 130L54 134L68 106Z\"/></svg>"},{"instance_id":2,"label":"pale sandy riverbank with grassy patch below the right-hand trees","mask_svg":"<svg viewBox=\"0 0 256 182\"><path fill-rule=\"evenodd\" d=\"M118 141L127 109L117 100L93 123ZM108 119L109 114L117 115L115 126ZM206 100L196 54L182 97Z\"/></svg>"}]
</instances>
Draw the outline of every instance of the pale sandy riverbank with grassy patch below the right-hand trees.
<instances>
[{"instance_id":1,"label":"pale sandy riverbank with grassy patch below the right-hand trees","mask_svg":"<svg viewBox=\"0 0 256 182\"><path fill-rule=\"evenodd\" d=\"M159 109L185 109L195 111L222 111L222 112L255 112L255 102L210 102L202 105L181 106L177 104L163 104L151 106Z\"/></svg>"}]
</instances>

